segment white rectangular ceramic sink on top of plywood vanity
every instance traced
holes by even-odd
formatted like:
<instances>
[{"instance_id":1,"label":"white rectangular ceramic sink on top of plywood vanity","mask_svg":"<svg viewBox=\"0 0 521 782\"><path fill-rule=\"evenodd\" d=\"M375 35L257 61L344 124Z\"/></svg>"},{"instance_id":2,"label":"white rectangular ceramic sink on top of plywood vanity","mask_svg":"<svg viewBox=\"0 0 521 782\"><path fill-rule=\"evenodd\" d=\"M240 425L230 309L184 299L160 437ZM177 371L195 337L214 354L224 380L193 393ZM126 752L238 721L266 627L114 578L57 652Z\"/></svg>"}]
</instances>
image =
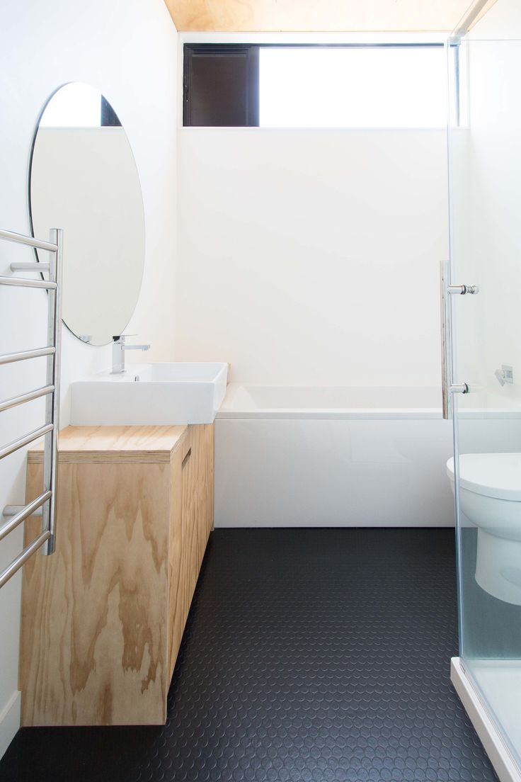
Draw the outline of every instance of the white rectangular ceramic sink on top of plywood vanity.
<instances>
[{"instance_id":1,"label":"white rectangular ceramic sink on top of plywood vanity","mask_svg":"<svg viewBox=\"0 0 521 782\"><path fill-rule=\"evenodd\" d=\"M70 422L78 426L210 424L227 387L227 364L127 364L73 382Z\"/></svg>"}]
</instances>

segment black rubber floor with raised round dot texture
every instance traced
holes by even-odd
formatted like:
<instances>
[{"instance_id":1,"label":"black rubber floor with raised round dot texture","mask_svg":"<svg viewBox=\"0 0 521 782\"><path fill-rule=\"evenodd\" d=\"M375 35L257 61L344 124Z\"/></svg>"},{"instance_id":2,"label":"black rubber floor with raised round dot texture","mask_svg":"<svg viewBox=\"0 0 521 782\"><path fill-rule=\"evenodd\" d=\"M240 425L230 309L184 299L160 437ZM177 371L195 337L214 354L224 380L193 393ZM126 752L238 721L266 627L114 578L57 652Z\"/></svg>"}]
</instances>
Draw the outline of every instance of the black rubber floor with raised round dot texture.
<instances>
[{"instance_id":1,"label":"black rubber floor with raised round dot texture","mask_svg":"<svg viewBox=\"0 0 521 782\"><path fill-rule=\"evenodd\" d=\"M2 782L486 782L454 532L217 530L164 727L21 730Z\"/></svg>"}]
</instances>

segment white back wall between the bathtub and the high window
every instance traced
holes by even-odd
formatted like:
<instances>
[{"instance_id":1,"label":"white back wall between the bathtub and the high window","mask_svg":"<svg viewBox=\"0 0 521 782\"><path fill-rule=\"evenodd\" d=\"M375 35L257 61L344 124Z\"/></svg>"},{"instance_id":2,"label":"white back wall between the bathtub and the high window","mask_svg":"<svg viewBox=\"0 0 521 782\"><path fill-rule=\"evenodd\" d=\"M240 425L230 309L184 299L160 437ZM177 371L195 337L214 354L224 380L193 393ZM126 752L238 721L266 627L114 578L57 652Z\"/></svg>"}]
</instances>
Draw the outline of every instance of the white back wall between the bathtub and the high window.
<instances>
[{"instance_id":1,"label":"white back wall between the bathtub and the high window","mask_svg":"<svg viewBox=\"0 0 521 782\"><path fill-rule=\"evenodd\" d=\"M440 383L442 130L183 128L177 358L241 382Z\"/></svg>"}]
</instances>

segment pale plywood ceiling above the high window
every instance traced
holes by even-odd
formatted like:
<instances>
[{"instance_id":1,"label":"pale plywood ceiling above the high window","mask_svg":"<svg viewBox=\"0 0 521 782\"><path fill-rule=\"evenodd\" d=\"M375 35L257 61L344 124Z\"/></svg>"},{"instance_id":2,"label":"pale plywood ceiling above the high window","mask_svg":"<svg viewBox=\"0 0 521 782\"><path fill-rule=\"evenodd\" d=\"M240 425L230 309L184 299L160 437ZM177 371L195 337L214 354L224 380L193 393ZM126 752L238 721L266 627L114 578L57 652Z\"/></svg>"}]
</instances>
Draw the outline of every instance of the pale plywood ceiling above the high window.
<instances>
[{"instance_id":1,"label":"pale plywood ceiling above the high window","mask_svg":"<svg viewBox=\"0 0 521 782\"><path fill-rule=\"evenodd\" d=\"M412 32L453 30L474 4L471 0L166 0L166 5L180 32Z\"/></svg>"}]
</instances>

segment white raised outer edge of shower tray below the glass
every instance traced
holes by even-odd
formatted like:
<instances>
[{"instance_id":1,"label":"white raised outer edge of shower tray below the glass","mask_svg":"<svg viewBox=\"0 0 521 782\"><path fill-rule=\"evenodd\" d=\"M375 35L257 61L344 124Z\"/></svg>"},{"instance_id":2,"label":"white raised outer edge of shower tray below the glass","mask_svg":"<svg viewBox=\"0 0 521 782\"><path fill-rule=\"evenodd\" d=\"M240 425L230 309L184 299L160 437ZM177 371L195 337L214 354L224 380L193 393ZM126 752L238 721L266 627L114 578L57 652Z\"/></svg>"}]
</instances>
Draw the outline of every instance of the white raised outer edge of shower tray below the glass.
<instances>
[{"instance_id":1,"label":"white raised outer edge of shower tray below the glass","mask_svg":"<svg viewBox=\"0 0 521 782\"><path fill-rule=\"evenodd\" d=\"M521 782L521 771L487 712L459 657L451 659L451 682L498 774L500 782Z\"/></svg>"}]
</instances>

